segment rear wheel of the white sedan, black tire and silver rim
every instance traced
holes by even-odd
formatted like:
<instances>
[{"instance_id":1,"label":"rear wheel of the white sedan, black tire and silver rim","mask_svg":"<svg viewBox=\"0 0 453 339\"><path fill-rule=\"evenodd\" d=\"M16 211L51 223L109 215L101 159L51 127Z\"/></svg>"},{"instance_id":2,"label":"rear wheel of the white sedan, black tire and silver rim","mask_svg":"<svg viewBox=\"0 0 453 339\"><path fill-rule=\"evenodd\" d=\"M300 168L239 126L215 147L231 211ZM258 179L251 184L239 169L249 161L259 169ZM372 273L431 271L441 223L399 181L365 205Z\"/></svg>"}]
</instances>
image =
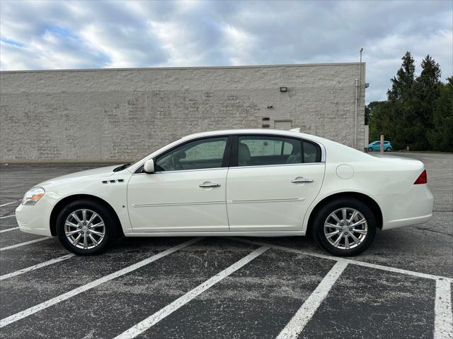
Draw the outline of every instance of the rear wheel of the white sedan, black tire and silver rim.
<instances>
[{"instance_id":1,"label":"rear wheel of the white sedan, black tire and silver rim","mask_svg":"<svg viewBox=\"0 0 453 339\"><path fill-rule=\"evenodd\" d=\"M343 222L343 209L346 210L347 215L345 222ZM354 211L357 211L357 216L353 220L348 220L355 213ZM336 214L338 222L333 218L333 213ZM363 221L364 219L365 222ZM349 221L352 224L355 222L362 223L351 229L350 225L347 225ZM334 227L325 227L326 222ZM377 221L374 213L365 203L354 198L340 198L321 207L314 218L312 227L314 239L328 253L334 256L356 256L372 244L376 234ZM351 232L351 230L360 232ZM333 232L337 231L338 234L333 234ZM350 235L351 233L352 235ZM330 237L327 234L330 234ZM347 237L349 246L346 244L345 237ZM353 237L359 241L359 244L355 242ZM337 240L338 244L335 246Z\"/></svg>"}]
</instances>

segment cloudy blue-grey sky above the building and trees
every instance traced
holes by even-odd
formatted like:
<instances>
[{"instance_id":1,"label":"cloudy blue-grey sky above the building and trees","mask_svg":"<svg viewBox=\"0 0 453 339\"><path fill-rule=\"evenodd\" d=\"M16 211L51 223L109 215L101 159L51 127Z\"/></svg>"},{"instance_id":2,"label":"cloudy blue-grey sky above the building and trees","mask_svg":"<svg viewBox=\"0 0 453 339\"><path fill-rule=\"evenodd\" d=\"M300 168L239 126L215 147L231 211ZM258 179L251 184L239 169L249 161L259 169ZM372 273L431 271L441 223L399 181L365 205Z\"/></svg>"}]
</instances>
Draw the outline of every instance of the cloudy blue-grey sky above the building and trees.
<instances>
[{"instance_id":1,"label":"cloudy blue-grey sky above the building and trees","mask_svg":"<svg viewBox=\"0 0 453 339\"><path fill-rule=\"evenodd\" d=\"M358 61L383 100L406 51L453 73L453 1L0 1L0 68Z\"/></svg>"}]
</instances>

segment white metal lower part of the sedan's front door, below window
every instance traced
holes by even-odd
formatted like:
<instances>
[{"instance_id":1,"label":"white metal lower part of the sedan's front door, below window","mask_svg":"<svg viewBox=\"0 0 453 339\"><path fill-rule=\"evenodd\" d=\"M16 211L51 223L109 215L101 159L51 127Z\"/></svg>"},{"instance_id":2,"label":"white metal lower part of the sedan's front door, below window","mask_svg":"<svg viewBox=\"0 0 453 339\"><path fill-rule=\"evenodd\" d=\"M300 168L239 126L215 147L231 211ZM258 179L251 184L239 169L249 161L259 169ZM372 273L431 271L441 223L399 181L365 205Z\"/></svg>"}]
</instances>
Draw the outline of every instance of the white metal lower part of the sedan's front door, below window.
<instances>
[{"instance_id":1,"label":"white metal lower part of the sedan's front door, below window","mask_svg":"<svg viewBox=\"0 0 453 339\"><path fill-rule=\"evenodd\" d=\"M226 172L223 168L132 175L127 204L134 232L228 231ZM220 186L200 188L203 182Z\"/></svg>"}]
</instances>

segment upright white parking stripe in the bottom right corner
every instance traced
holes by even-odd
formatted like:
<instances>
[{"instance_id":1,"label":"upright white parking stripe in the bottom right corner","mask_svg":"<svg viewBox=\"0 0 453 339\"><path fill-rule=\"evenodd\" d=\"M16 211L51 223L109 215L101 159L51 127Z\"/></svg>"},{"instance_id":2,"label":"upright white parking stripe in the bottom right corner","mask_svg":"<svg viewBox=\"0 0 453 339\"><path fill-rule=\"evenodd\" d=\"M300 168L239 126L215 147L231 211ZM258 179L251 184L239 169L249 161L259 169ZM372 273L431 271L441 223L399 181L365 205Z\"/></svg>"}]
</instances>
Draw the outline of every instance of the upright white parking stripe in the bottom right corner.
<instances>
[{"instance_id":1,"label":"upright white parking stripe in the bottom right corner","mask_svg":"<svg viewBox=\"0 0 453 339\"><path fill-rule=\"evenodd\" d=\"M453 338L452 288L448 280L436 280L434 339Z\"/></svg>"}]
</instances>

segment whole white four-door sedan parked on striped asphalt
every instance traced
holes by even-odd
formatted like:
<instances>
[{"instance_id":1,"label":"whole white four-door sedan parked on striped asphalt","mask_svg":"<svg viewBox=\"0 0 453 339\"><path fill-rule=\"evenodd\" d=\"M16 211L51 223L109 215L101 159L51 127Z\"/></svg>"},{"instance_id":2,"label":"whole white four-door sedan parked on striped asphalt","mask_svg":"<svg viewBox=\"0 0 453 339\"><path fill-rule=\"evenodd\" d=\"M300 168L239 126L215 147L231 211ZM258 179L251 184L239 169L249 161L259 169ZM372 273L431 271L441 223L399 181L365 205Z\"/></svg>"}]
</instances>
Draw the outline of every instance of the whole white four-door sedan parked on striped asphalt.
<instances>
[{"instance_id":1,"label":"whole white four-door sedan parked on striped asphalt","mask_svg":"<svg viewBox=\"0 0 453 339\"><path fill-rule=\"evenodd\" d=\"M426 222L433 198L418 160L373 157L295 131L185 136L130 165L42 182L16 209L23 232L98 254L117 237L282 237L309 232L352 256L377 228Z\"/></svg>"}]
</instances>

